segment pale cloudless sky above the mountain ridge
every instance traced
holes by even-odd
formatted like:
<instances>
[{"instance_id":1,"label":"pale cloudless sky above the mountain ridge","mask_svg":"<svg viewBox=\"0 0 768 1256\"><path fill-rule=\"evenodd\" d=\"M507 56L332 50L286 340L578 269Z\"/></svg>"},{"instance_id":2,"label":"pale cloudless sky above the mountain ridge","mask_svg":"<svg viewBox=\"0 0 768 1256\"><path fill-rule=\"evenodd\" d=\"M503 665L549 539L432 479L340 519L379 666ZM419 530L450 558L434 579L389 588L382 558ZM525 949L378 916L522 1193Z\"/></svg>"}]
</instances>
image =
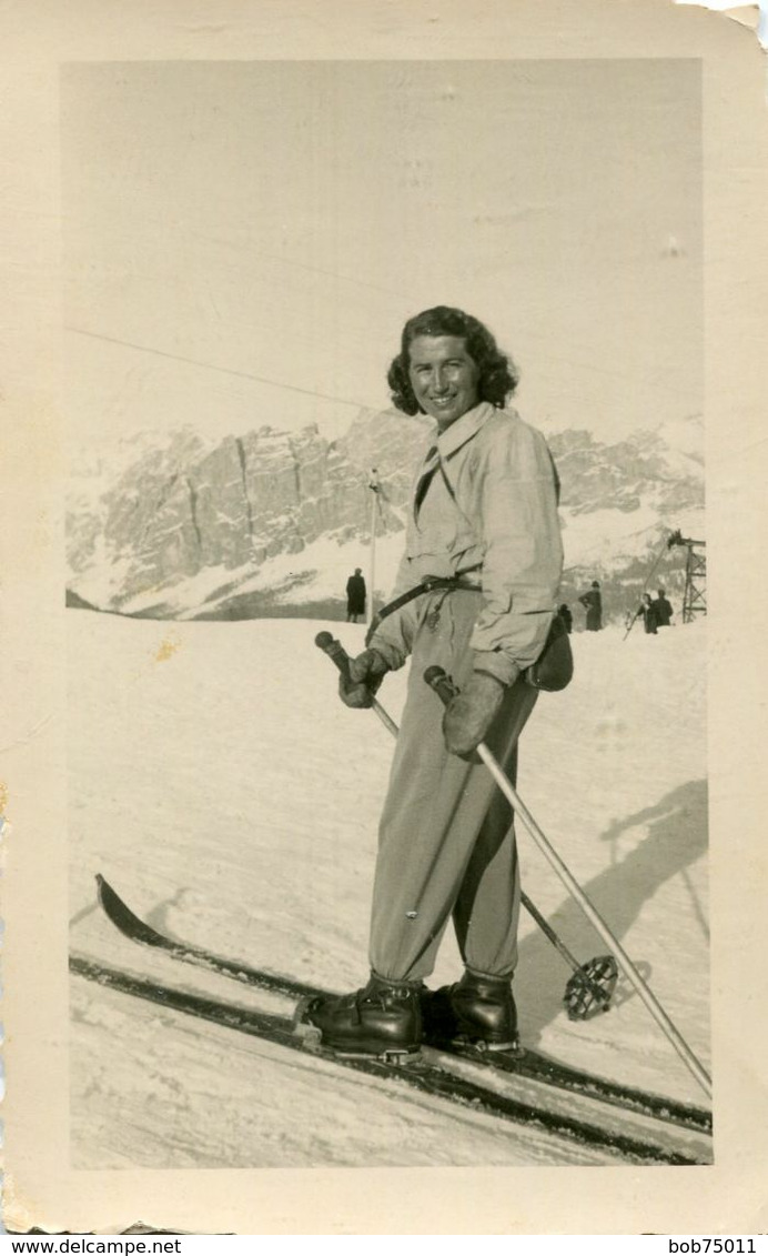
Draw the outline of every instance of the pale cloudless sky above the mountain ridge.
<instances>
[{"instance_id":1,"label":"pale cloudless sky above the mountain ridge","mask_svg":"<svg viewBox=\"0 0 768 1256\"><path fill-rule=\"evenodd\" d=\"M701 409L695 60L73 64L61 137L77 445L340 435L434 304L547 431Z\"/></svg>"}]
</instances>

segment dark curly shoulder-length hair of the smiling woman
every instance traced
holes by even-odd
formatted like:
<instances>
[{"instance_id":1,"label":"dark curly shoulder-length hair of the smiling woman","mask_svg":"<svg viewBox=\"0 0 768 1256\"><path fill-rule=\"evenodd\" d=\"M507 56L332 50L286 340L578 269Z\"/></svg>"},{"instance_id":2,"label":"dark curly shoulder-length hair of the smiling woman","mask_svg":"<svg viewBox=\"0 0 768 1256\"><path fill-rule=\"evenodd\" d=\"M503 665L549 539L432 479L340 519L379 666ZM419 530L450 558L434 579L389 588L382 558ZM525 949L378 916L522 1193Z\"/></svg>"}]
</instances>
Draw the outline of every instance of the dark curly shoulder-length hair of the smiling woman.
<instances>
[{"instance_id":1,"label":"dark curly shoulder-length hair of the smiling woman","mask_svg":"<svg viewBox=\"0 0 768 1256\"><path fill-rule=\"evenodd\" d=\"M520 373L511 358L499 352L498 345L487 327L463 310L449 305L435 305L409 318L403 328L400 352L393 358L387 374L393 403L405 414L423 414L414 391L410 387L408 368L410 365L409 347L417 335L459 335L467 344L467 353L479 367L477 396L489 401L501 409L517 388Z\"/></svg>"}]
</instances>

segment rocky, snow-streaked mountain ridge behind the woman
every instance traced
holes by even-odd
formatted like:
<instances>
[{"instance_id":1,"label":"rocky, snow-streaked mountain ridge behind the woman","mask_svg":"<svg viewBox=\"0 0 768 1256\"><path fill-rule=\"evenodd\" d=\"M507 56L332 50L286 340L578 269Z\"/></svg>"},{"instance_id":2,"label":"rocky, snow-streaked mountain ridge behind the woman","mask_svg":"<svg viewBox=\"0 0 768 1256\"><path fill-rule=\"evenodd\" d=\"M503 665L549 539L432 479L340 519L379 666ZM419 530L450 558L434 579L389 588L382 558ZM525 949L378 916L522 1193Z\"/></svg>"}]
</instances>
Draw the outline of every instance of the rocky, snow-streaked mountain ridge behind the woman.
<instances>
[{"instance_id":1,"label":"rocky, snow-streaked mountain ridge behind the woman","mask_svg":"<svg viewBox=\"0 0 768 1256\"><path fill-rule=\"evenodd\" d=\"M615 445L587 431L548 436L573 588L595 573L620 580L665 528L700 515L701 425L683 427L675 445L663 430ZM262 426L218 442L184 428L90 453L73 472L68 501L69 602L157 618L301 613L307 604L316 612L339 598L343 573L365 560L371 506L387 592L430 432L424 417L360 411L336 441L316 427Z\"/></svg>"}]
</instances>

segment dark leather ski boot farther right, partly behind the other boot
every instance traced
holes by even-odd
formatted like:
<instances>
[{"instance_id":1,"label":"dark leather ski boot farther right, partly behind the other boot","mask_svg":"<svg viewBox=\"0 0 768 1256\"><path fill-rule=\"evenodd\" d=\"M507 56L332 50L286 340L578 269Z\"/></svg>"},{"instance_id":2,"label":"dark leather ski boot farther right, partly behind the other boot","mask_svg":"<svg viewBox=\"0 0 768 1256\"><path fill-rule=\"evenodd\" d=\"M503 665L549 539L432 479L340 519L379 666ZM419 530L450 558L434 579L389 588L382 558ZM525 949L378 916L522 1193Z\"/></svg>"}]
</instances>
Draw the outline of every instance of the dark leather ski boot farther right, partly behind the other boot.
<instances>
[{"instance_id":1,"label":"dark leather ski boot farther right, partly behind the other boot","mask_svg":"<svg viewBox=\"0 0 768 1256\"><path fill-rule=\"evenodd\" d=\"M477 1051L520 1051L511 977L467 970L461 981L422 995L424 1041Z\"/></svg>"}]
</instances>

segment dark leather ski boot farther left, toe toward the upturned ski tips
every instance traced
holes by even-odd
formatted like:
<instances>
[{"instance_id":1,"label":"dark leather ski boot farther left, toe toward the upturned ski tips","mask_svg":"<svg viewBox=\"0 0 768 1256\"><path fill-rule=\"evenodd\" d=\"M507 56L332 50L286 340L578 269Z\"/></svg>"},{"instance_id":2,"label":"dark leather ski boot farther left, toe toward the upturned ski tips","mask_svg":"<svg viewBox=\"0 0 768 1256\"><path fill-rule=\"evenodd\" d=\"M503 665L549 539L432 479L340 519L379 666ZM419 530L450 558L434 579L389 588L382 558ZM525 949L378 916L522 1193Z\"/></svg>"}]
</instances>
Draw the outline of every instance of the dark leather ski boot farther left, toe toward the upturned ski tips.
<instances>
[{"instance_id":1,"label":"dark leather ski boot farther left, toe toward the upturned ski tips","mask_svg":"<svg viewBox=\"0 0 768 1256\"><path fill-rule=\"evenodd\" d=\"M371 973L368 985L351 995L301 1000L296 1032L310 1050L413 1064L422 1044L420 995L420 982L385 981Z\"/></svg>"}]
</instances>

